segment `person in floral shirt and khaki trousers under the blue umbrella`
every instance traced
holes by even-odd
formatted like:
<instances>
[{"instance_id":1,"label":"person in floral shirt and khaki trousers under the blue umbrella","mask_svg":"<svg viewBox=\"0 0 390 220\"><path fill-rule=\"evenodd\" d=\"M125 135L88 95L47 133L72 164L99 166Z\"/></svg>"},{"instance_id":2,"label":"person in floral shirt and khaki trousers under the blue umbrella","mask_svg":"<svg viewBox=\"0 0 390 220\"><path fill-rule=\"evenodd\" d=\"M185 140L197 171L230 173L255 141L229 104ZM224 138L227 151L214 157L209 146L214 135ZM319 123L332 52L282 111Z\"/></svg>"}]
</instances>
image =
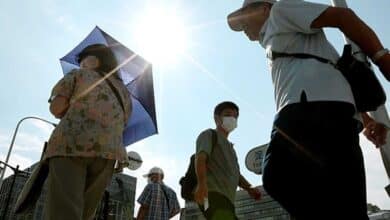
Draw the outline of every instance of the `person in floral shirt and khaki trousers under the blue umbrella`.
<instances>
[{"instance_id":1,"label":"person in floral shirt and khaki trousers under the blue umbrella","mask_svg":"<svg viewBox=\"0 0 390 220\"><path fill-rule=\"evenodd\" d=\"M131 114L129 93L117 73L76 100L85 89L117 66L105 45L78 55L80 69L53 88L50 111L60 119L48 141L49 163L44 218L90 220L95 216L114 164L128 162L122 132Z\"/></svg>"}]
</instances>

